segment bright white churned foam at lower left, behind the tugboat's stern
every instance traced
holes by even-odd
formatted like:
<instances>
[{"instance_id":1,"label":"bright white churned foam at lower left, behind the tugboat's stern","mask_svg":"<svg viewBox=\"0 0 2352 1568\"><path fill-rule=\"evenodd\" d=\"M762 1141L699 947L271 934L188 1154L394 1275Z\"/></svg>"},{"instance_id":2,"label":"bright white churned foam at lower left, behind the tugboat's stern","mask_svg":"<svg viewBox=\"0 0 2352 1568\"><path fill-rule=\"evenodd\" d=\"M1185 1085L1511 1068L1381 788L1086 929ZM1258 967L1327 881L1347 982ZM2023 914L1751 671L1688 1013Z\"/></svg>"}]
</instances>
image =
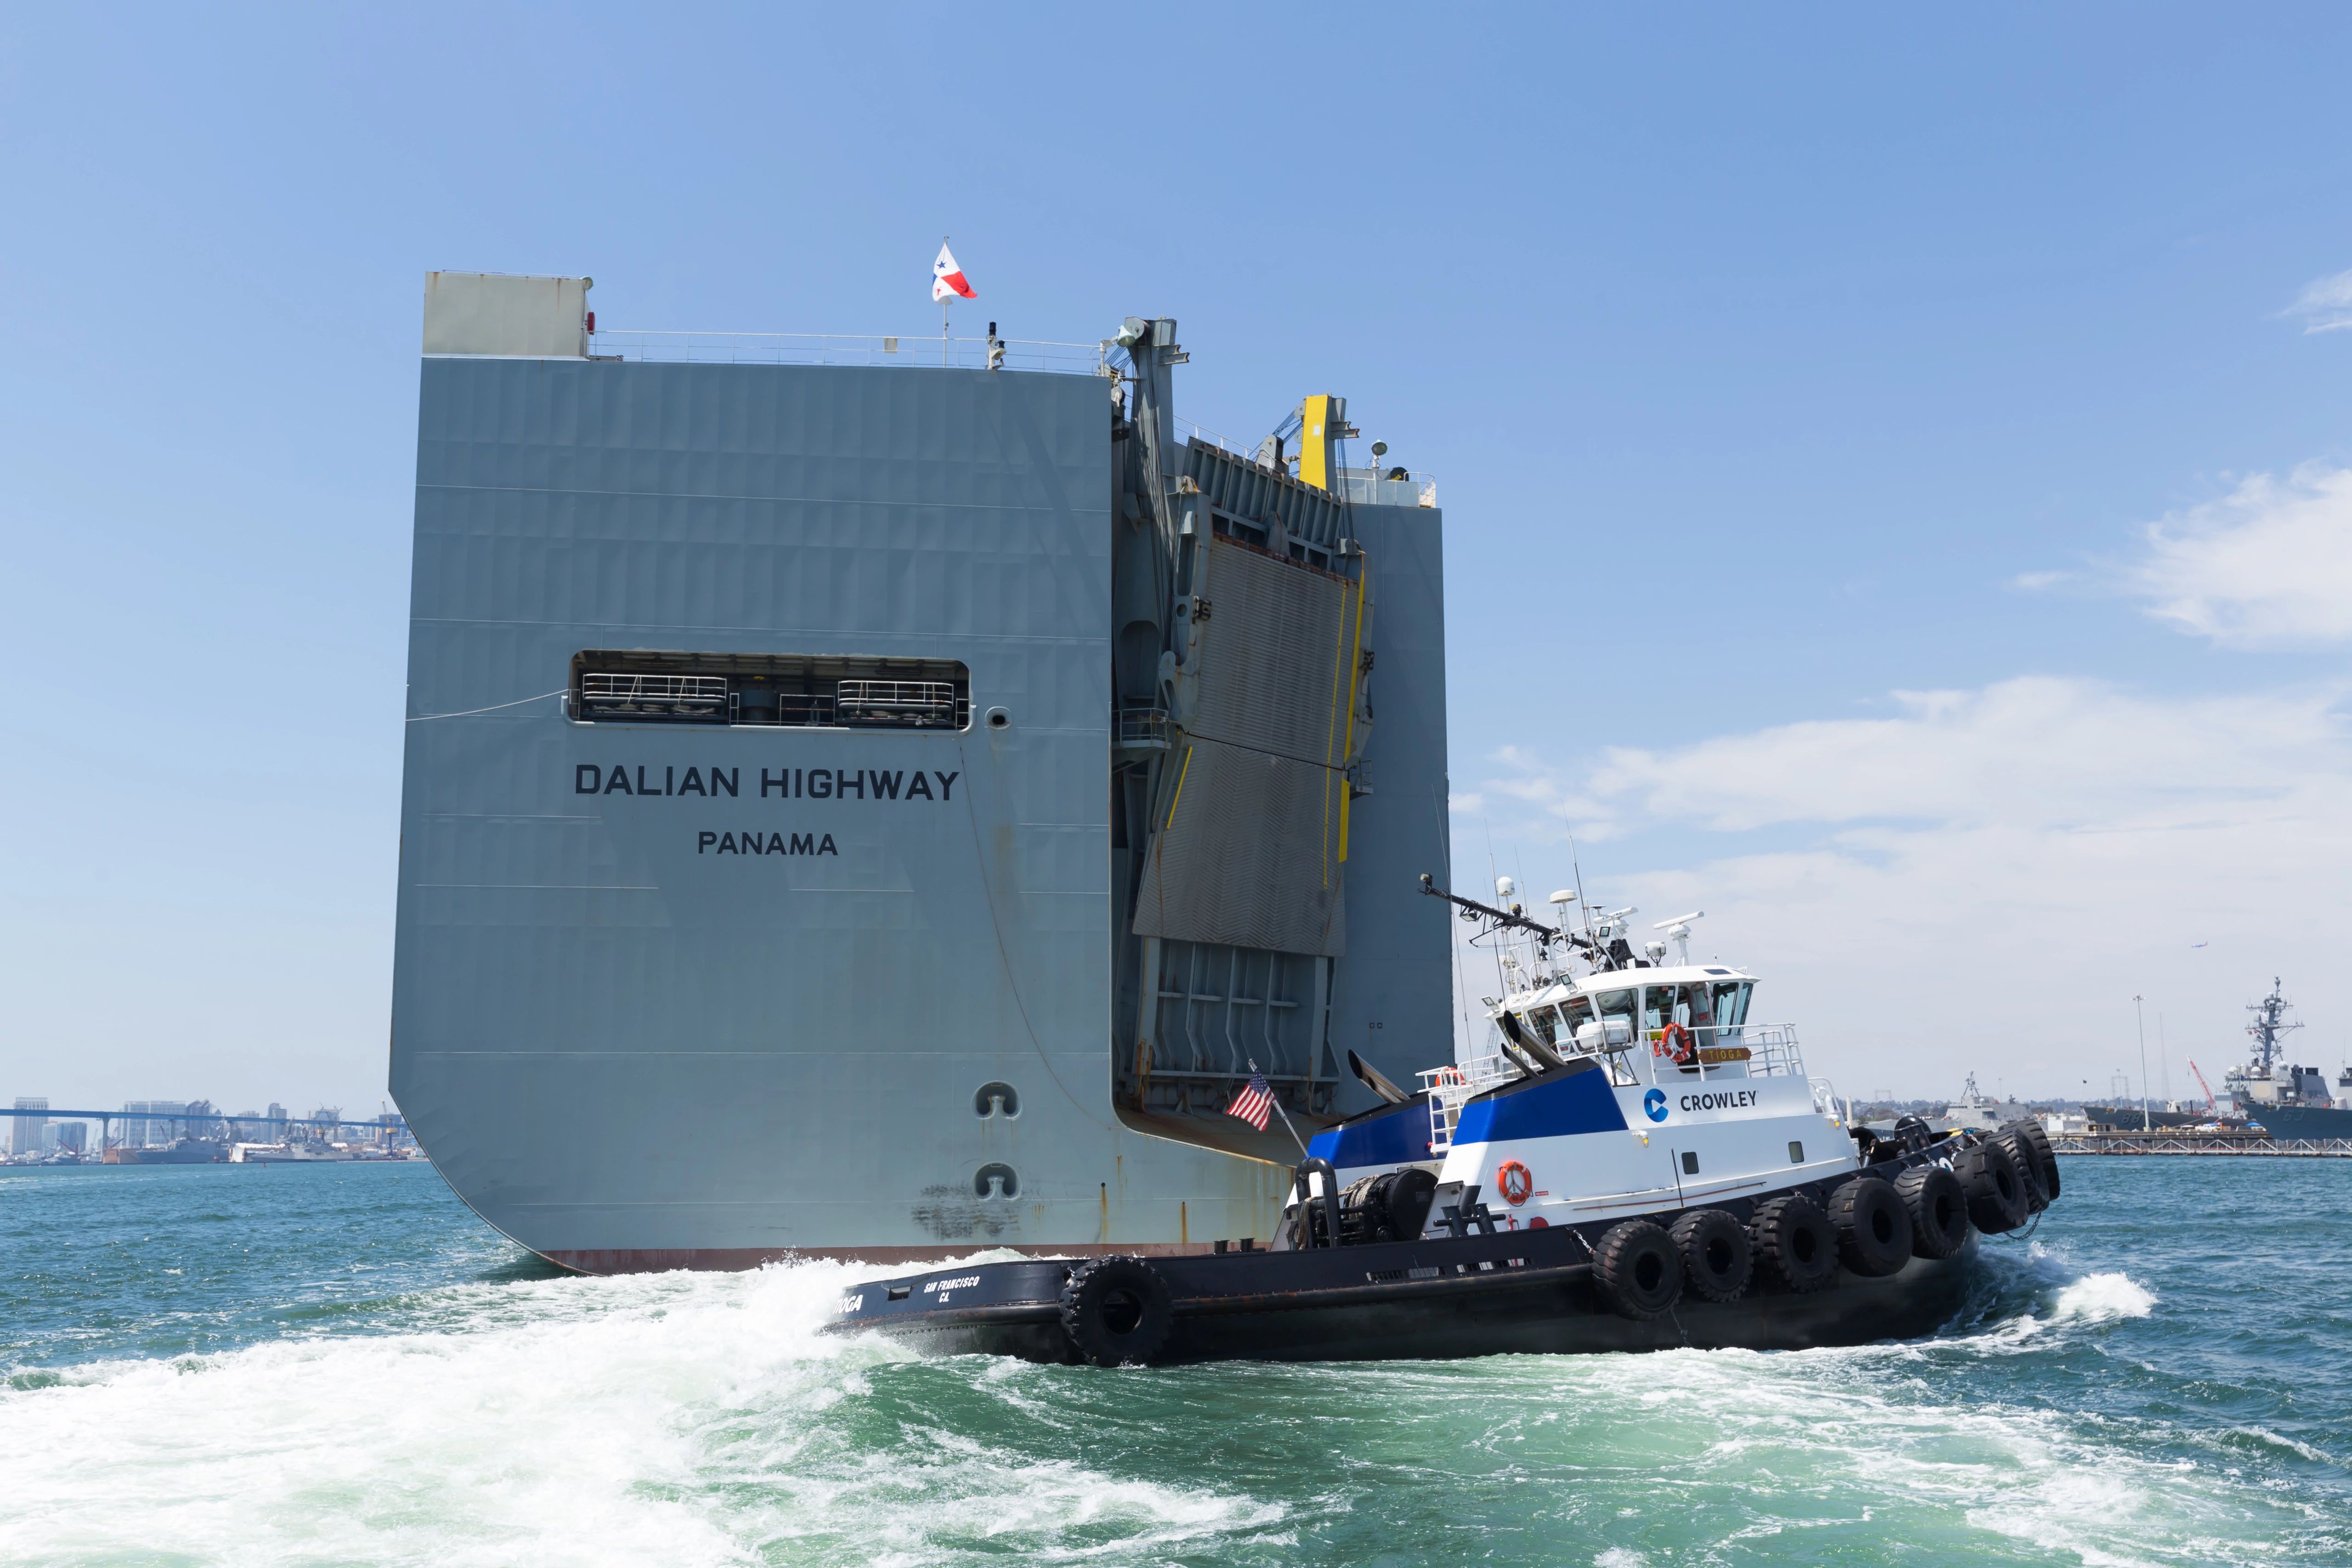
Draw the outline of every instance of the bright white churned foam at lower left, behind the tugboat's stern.
<instances>
[{"instance_id":1,"label":"bright white churned foam at lower left, behind the tugboat's stern","mask_svg":"<svg viewBox=\"0 0 2352 1568\"><path fill-rule=\"evenodd\" d=\"M847 1276L459 1288L423 1302L433 1331L75 1368L0 1396L0 1561L938 1563L988 1540L1056 1556L1279 1523L1082 1450L1025 1462L898 1418L861 1432L875 1378L910 1368L814 1333Z\"/></svg>"}]
</instances>

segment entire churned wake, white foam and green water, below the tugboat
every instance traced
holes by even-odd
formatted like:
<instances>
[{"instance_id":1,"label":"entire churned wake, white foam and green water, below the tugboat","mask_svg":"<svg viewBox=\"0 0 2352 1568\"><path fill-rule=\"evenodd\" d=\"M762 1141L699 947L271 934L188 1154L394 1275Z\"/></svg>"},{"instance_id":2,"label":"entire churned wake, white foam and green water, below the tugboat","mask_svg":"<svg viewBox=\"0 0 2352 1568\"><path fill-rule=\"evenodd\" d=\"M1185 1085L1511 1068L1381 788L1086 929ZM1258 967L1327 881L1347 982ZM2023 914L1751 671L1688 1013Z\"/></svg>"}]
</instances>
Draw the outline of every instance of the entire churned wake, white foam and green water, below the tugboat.
<instances>
[{"instance_id":1,"label":"entire churned wake, white foam and green water, below the tugboat","mask_svg":"<svg viewBox=\"0 0 2352 1568\"><path fill-rule=\"evenodd\" d=\"M2025 1316L1922 1345L1129 1373L821 1338L837 1265L463 1286L407 1333L0 1394L0 1563L2194 1563L2307 1530L2279 1443L2032 1403L2023 1356L2154 1298L2004 1267Z\"/></svg>"}]
</instances>

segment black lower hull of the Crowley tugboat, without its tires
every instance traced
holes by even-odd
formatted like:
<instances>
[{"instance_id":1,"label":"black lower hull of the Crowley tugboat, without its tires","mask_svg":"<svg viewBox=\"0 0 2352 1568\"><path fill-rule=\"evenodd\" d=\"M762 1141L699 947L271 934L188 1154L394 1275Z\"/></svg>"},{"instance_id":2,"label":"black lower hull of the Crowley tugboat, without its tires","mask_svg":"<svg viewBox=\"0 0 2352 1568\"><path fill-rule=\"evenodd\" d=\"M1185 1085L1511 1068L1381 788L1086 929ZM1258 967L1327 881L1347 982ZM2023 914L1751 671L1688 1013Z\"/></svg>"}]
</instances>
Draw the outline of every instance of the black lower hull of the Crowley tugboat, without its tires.
<instances>
[{"instance_id":1,"label":"black lower hull of the Crowley tugboat, without its tires","mask_svg":"<svg viewBox=\"0 0 2352 1568\"><path fill-rule=\"evenodd\" d=\"M1432 1361L1907 1340L1959 1314L1976 1251L1971 1244L1959 1258L1912 1258L1879 1279L1839 1269L1828 1288L1804 1295L1769 1288L1733 1302L1684 1295L1658 1319L1628 1319L1609 1309L1590 1265L1566 1255L1571 1248L1581 1258L1571 1232L1519 1232L1319 1253L1155 1258L1174 1298L1174 1324L1150 1361ZM873 1281L844 1295L828 1333L875 1331L934 1356L1077 1363L1058 1300L1068 1267L1023 1260ZM943 1281L948 1302L936 1305ZM889 1298L894 1291L898 1300Z\"/></svg>"}]
</instances>

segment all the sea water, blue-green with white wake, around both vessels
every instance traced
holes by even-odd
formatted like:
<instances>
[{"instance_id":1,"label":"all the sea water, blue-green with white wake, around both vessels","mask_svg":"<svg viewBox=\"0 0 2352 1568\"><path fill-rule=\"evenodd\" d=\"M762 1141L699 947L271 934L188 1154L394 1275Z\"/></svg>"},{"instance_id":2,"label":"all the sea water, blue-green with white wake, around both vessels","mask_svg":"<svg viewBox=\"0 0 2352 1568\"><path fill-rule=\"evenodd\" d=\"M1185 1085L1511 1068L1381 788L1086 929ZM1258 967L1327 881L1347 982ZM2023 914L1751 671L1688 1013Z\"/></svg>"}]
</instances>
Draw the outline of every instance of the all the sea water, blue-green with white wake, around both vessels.
<instances>
[{"instance_id":1,"label":"all the sea water, blue-green with white wake, around both vessels","mask_svg":"<svg viewBox=\"0 0 2352 1568\"><path fill-rule=\"evenodd\" d=\"M1091 1371L423 1164L0 1171L0 1563L2352 1563L2352 1161L2065 1182L1924 1342Z\"/></svg>"}]
</instances>

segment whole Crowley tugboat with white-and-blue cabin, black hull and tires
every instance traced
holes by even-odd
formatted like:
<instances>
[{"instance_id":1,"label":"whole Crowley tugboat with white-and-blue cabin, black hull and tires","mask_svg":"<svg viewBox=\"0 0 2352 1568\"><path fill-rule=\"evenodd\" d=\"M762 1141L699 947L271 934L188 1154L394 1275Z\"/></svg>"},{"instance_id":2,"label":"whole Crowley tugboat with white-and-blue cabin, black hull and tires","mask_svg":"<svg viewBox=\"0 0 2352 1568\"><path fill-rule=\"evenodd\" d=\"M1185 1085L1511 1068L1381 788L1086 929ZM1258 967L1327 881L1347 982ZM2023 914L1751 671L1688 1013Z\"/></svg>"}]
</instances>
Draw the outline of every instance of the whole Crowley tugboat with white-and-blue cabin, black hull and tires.
<instances>
[{"instance_id":1,"label":"whole Crowley tugboat with white-and-blue cabin, black hull and tires","mask_svg":"<svg viewBox=\"0 0 2352 1568\"><path fill-rule=\"evenodd\" d=\"M1494 940L1501 1046L1319 1131L1272 1246L1016 1260L849 1288L828 1333L1049 1363L1376 1361L1915 1338L1962 1302L1976 1234L2058 1197L2039 1121L1853 1124L1757 978L1635 954L1628 917L1531 919L1432 886ZM1581 971L1581 973L1578 973Z\"/></svg>"}]
</instances>

